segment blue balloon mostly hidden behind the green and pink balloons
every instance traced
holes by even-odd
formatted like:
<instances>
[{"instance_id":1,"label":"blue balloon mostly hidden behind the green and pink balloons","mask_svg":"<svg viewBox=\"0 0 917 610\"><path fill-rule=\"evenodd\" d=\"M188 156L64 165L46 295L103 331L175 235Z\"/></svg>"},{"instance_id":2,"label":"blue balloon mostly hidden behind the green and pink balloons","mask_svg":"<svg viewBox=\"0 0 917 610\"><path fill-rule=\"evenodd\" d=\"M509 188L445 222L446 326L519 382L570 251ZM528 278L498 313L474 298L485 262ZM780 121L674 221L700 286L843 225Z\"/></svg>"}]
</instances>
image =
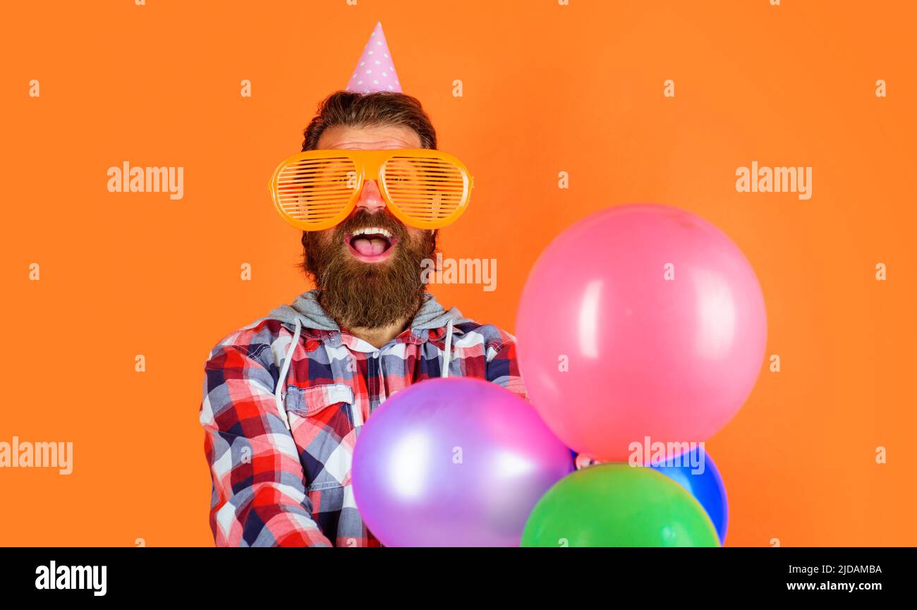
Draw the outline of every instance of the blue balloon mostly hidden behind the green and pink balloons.
<instances>
[{"instance_id":1,"label":"blue balloon mostly hidden behind the green and pink balloons","mask_svg":"<svg viewBox=\"0 0 917 610\"><path fill-rule=\"evenodd\" d=\"M713 458L702 448L695 446L688 455L680 456L680 460L676 458L674 462L680 463L681 466L661 465L651 468L678 482L701 503L713 521L713 527L716 528L722 545L726 539L726 527L729 525L729 505L726 503L723 477L713 463Z\"/></svg>"}]
</instances>

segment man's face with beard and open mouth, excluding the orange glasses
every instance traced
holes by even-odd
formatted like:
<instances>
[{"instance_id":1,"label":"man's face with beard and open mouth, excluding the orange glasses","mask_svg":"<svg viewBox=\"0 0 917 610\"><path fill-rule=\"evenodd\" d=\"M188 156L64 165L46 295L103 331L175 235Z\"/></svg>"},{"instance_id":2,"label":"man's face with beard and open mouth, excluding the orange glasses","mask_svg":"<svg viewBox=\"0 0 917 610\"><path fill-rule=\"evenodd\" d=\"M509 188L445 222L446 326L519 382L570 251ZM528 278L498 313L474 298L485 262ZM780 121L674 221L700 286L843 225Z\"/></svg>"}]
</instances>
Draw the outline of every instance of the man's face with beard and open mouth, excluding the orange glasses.
<instances>
[{"instance_id":1,"label":"man's face with beard and open mouth, excluding the orange glasses","mask_svg":"<svg viewBox=\"0 0 917 610\"><path fill-rule=\"evenodd\" d=\"M328 128L319 149L419 149L413 129ZM374 180L366 180L354 211L337 227L307 232L305 267L326 313L345 327L388 326L413 316L425 285L421 263L436 249L433 231L408 227L389 213Z\"/></svg>"}]
</instances>

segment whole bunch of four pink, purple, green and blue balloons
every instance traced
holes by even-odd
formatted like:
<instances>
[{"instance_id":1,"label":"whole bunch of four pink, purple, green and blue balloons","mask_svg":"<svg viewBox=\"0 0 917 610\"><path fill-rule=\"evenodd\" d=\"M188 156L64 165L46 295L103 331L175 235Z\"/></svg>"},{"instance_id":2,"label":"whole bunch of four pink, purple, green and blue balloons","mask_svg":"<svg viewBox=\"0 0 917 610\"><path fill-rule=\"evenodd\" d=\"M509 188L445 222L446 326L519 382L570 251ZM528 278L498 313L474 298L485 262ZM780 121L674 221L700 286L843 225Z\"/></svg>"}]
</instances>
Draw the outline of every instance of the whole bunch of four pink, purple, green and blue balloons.
<instances>
[{"instance_id":1,"label":"whole bunch of four pink, purple, green and blue balloons","mask_svg":"<svg viewBox=\"0 0 917 610\"><path fill-rule=\"evenodd\" d=\"M725 490L698 442L750 394L766 332L718 228L664 205L588 216L525 284L532 404L470 378L393 395L354 450L360 515L385 546L718 546ZM645 445L676 449L634 460ZM611 463L574 471L570 449Z\"/></svg>"}]
</instances>

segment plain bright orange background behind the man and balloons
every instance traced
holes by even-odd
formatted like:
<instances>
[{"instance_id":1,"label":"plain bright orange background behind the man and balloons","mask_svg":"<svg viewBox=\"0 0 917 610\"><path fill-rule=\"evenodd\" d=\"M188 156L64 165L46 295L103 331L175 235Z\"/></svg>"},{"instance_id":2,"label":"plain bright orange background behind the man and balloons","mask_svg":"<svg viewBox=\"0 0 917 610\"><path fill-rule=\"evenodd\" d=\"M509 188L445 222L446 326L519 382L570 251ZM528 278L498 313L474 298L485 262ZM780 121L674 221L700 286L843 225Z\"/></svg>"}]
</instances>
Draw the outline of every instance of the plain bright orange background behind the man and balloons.
<instances>
[{"instance_id":1,"label":"plain bright orange background behind the man and balloons","mask_svg":"<svg viewBox=\"0 0 917 610\"><path fill-rule=\"evenodd\" d=\"M307 288L300 234L265 185L377 20L404 92L475 175L444 255L498 261L495 292L437 286L445 305L512 331L527 272L562 227L635 201L706 217L754 266L767 353L782 359L708 442L727 544L917 544L911 3L109 0L5 13L0 440L73 441L74 471L0 470L0 544L213 543L204 360ZM105 172L126 160L184 166L184 198L109 194ZM735 169L756 160L812 166L812 199L736 193Z\"/></svg>"}]
</instances>

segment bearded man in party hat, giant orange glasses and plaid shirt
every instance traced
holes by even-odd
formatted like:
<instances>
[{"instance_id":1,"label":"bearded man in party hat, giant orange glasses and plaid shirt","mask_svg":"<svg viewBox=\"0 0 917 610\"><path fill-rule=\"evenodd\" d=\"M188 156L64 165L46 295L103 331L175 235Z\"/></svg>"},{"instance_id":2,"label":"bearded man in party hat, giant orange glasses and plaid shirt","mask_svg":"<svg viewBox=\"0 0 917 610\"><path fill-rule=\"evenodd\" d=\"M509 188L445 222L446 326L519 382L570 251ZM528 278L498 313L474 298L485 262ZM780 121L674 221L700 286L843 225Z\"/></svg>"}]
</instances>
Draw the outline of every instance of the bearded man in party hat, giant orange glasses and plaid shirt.
<instances>
[{"instance_id":1,"label":"bearded man in party hat, giant orange glasses and plaid shirt","mask_svg":"<svg viewBox=\"0 0 917 610\"><path fill-rule=\"evenodd\" d=\"M391 61L380 24L361 61L381 55ZM412 383L449 375L525 397L513 336L444 309L422 279L438 231L424 227L467 205L464 167L436 154L436 130L401 93L393 65L377 71L374 88L363 88L360 67L348 91L319 105L303 153L272 181L282 216L305 229L303 267L315 289L223 338L204 365L200 420L217 546L379 546L350 484L372 412ZM401 166L385 162L398 153L384 151L397 150L417 152ZM427 182L405 197L399 185L414 184L417 168ZM460 176L465 191L450 186ZM359 189L349 194L338 177Z\"/></svg>"}]
</instances>

